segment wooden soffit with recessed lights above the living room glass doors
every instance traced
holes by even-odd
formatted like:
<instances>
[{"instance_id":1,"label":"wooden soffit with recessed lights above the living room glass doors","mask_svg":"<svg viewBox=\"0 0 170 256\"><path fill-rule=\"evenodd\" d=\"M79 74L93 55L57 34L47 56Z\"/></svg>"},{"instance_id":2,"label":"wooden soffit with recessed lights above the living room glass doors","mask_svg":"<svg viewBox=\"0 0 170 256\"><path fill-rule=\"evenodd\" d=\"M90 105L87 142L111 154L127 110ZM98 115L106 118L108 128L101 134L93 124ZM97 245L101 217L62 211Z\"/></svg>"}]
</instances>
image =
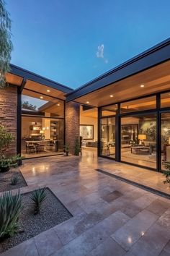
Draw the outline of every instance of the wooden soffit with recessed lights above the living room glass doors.
<instances>
[{"instance_id":1,"label":"wooden soffit with recessed lights above the living room glass doors","mask_svg":"<svg viewBox=\"0 0 170 256\"><path fill-rule=\"evenodd\" d=\"M76 102L87 104L88 101L91 106L104 106L164 90L170 90L170 61L76 98Z\"/></svg>"}]
</instances>

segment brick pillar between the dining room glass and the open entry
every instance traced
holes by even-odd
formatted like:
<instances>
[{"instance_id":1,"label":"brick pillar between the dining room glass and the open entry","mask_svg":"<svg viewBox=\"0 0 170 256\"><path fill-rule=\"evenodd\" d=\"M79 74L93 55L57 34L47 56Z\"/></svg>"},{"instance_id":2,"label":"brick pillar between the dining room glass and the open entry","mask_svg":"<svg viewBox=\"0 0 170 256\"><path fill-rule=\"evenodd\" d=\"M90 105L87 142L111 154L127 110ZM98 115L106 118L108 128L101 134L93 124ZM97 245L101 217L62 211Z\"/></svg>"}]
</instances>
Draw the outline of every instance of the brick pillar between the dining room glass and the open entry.
<instances>
[{"instance_id":1,"label":"brick pillar between the dining room glass and the open entry","mask_svg":"<svg viewBox=\"0 0 170 256\"><path fill-rule=\"evenodd\" d=\"M68 102L65 108L66 119L66 144L70 147L70 153L74 153L76 137L79 137L80 106L78 103Z\"/></svg>"}]
</instances>

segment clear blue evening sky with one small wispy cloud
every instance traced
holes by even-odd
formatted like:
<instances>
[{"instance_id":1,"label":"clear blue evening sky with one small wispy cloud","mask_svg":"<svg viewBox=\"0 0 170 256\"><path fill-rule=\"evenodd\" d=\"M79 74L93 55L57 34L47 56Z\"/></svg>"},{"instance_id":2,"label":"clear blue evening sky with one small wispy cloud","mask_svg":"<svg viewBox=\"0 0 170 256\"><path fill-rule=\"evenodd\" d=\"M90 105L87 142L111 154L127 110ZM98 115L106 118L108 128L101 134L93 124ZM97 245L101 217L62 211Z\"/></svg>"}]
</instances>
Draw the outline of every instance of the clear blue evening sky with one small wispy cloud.
<instances>
[{"instance_id":1,"label":"clear blue evening sky with one small wispy cloud","mask_svg":"<svg viewBox=\"0 0 170 256\"><path fill-rule=\"evenodd\" d=\"M77 88L169 38L169 0L6 0L12 64Z\"/></svg>"}]
</instances>

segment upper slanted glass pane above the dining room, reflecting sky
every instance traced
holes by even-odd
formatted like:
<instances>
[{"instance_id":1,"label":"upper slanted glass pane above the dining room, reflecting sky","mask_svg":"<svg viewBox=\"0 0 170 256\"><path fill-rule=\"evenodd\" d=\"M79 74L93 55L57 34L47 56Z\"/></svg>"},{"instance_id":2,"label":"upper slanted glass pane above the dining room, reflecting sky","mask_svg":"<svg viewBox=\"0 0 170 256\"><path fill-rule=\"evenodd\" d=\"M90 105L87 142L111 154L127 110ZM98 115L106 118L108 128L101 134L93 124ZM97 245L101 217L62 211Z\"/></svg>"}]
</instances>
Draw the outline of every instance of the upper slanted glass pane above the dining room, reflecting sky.
<instances>
[{"instance_id":1,"label":"upper slanted glass pane above the dining room, reflecting sky","mask_svg":"<svg viewBox=\"0 0 170 256\"><path fill-rule=\"evenodd\" d=\"M63 117L64 102L48 95L23 90L22 114Z\"/></svg>"}]
</instances>

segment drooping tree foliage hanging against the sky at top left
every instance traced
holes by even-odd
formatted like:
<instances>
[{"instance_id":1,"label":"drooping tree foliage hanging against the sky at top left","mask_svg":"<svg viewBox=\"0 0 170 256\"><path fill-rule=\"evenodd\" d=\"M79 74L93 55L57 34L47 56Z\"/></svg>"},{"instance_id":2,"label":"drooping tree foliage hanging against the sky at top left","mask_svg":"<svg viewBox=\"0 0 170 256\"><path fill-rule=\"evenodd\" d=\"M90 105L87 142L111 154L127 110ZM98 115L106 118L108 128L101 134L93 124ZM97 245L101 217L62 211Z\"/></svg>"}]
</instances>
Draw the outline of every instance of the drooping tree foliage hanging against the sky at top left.
<instances>
[{"instance_id":1,"label":"drooping tree foliage hanging against the sky at top left","mask_svg":"<svg viewBox=\"0 0 170 256\"><path fill-rule=\"evenodd\" d=\"M5 1L0 0L0 88L6 85L5 73L10 71L12 53L11 25L9 12L5 9Z\"/></svg>"}]
</instances>

